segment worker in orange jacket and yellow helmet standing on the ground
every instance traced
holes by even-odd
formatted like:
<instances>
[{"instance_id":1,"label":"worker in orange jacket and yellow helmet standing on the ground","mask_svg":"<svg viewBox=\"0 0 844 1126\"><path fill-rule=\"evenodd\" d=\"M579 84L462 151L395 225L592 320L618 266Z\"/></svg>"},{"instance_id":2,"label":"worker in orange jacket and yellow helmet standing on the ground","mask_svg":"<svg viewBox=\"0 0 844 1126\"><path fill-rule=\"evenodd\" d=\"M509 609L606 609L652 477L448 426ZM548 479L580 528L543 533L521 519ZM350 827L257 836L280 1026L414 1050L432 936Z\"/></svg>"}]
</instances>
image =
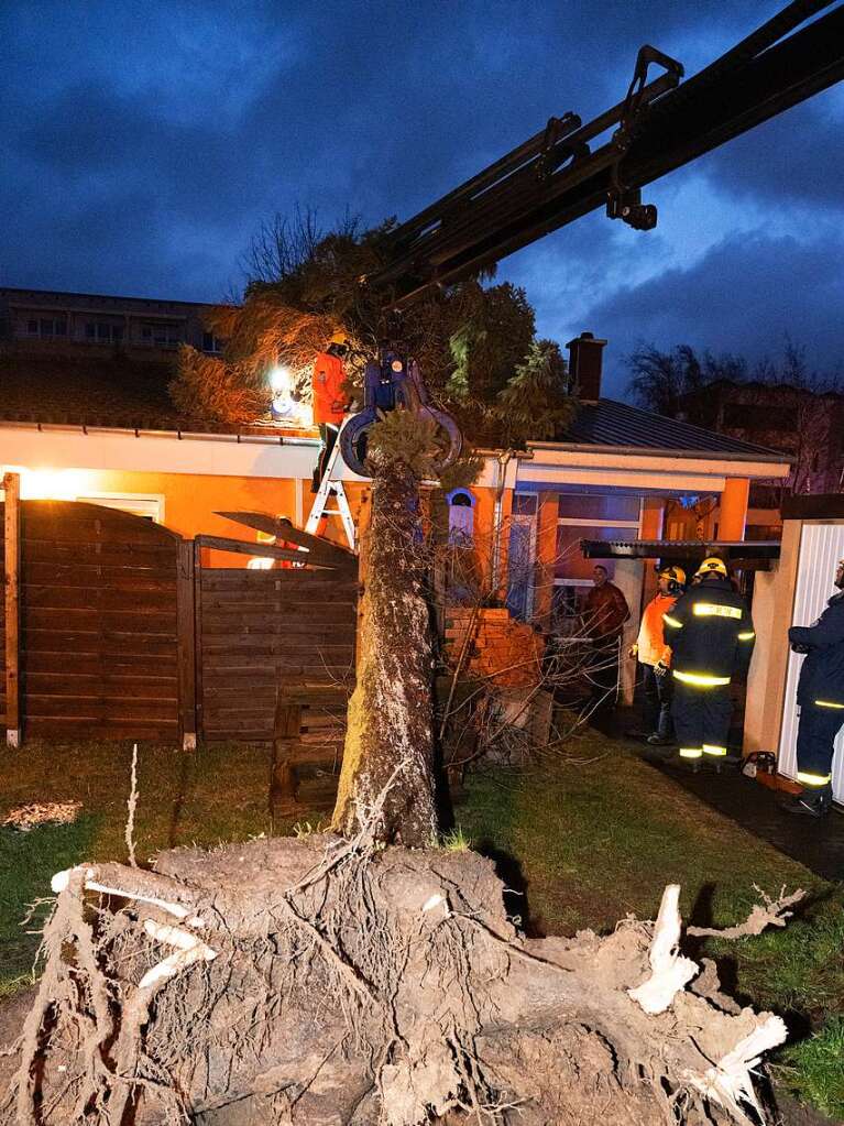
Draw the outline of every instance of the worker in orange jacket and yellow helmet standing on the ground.
<instances>
[{"instance_id":1,"label":"worker in orange jacket and yellow helmet standing on the ground","mask_svg":"<svg viewBox=\"0 0 844 1126\"><path fill-rule=\"evenodd\" d=\"M652 747L671 744L671 698L673 682L668 676L671 649L665 643L663 615L670 614L685 587L685 572L679 566L657 570L657 591L645 607L639 635L628 655L639 662L645 694L644 734Z\"/></svg>"}]
</instances>

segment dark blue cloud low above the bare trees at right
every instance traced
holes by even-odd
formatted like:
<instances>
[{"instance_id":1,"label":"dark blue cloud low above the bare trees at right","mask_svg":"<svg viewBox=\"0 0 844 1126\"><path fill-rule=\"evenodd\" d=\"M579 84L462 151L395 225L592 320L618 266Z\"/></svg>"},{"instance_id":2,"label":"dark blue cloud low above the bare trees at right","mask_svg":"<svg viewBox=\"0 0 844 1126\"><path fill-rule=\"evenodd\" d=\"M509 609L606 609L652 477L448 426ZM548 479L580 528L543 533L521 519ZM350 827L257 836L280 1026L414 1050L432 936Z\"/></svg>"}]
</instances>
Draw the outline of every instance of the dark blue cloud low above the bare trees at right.
<instances>
[{"instance_id":1,"label":"dark blue cloud low above the bare trees at right","mask_svg":"<svg viewBox=\"0 0 844 1126\"><path fill-rule=\"evenodd\" d=\"M787 336L820 370L844 370L844 236L800 243L751 234L713 248L689 270L620 289L586 314L609 337L607 392L620 394L625 358L639 341L746 356L782 352Z\"/></svg>"}]
</instances>

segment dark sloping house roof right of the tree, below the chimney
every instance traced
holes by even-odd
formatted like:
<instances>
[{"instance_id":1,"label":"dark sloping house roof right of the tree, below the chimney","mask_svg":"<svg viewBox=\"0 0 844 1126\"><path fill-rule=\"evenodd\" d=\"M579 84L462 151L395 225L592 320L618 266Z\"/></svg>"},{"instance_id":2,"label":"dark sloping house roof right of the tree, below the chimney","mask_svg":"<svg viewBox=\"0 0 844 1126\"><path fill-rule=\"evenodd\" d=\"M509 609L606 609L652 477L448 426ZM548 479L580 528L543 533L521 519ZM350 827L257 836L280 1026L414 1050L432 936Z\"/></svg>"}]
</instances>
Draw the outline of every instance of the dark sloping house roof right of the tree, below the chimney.
<instances>
[{"instance_id":1,"label":"dark sloping house roof right of the tree, below the chimney","mask_svg":"<svg viewBox=\"0 0 844 1126\"><path fill-rule=\"evenodd\" d=\"M530 443L532 449L566 446L653 449L673 454L716 454L754 457L757 461L787 462L767 446L730 438L715 430L664 418L614 399L584 403L565 435L556 441Z\"/></svg>"}]
</instances>

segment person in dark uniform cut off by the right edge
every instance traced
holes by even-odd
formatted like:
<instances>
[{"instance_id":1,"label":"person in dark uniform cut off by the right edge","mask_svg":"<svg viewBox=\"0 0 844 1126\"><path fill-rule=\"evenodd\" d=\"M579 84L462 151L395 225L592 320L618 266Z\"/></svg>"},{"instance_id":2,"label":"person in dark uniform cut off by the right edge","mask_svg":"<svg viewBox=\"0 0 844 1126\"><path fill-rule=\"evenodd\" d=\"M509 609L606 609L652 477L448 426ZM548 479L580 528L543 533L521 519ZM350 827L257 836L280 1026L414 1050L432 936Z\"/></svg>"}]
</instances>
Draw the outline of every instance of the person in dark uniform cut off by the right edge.
<instances>
[{"instance_id":1,"label":"person in dark uniform cut off by the right edge","mask_svg":"<svg viewBox=\"0 0 844 1126\"><path fill-rule=\"evenodd\" d=\"M834 582L838 592L815 625L789 629L791 647L806 653L797 683L797 780L803 788L782 807L810 817L829 812L835 736L844 725L844 560Z\"/></svg>"}]
</instances>

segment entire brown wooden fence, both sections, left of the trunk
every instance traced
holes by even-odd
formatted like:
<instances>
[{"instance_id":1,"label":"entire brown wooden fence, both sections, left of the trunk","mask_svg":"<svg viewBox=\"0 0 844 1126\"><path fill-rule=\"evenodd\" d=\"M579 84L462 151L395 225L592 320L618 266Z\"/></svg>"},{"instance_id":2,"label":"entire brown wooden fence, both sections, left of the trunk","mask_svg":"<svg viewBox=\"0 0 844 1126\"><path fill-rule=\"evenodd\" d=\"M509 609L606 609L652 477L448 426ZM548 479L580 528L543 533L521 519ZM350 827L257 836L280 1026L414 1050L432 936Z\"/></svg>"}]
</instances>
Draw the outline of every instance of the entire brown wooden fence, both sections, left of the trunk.
<instances>
[{"instance_id":1,"label":"entire brown wooden fence, both sections, left of the trunk","mask_svg":"<svg viewBox=\"0 0 844 1126\"><path fill-rule=\"evenodd\" d=\"M15 475L5 484L0 715L9 743L21 732L181 736L185 747L197 734L284 738L289 763L339 762L354 681L354 555L262 513L221 515L287 547L183 540L117 509L21 502ZM204 568L204 548L268 556L280 569Z\"/></svg>"}]
</instances>

